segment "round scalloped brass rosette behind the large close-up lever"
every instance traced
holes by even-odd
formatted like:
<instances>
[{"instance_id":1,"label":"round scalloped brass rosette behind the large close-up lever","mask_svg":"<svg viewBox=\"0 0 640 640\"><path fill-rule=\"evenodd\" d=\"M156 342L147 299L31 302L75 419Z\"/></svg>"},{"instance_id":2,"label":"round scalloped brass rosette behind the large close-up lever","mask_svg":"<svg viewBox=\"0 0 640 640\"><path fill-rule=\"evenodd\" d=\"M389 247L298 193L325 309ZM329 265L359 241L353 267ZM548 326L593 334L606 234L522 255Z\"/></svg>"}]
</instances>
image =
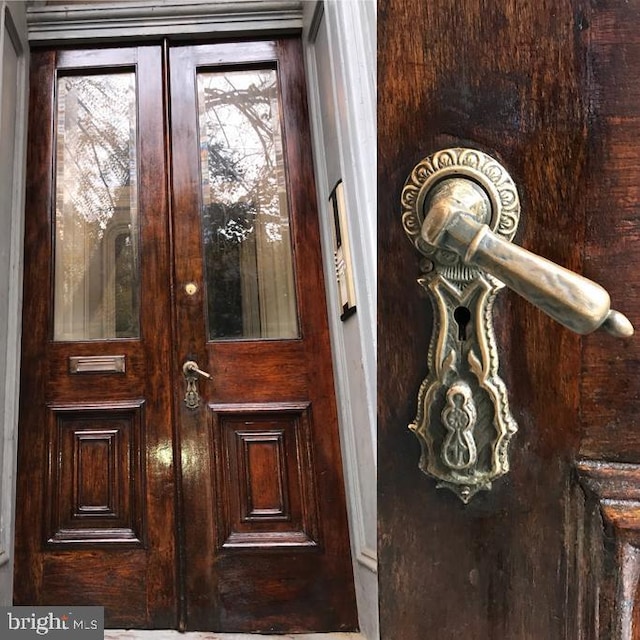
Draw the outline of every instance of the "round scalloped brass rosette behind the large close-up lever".
<instances>
[{"instance_id":1,"label":"round scalloped brass rosette behind the large close-up lever","mask_svg":"<svg viewBox=\"0 0 640 640\"><path fill-rule=\"evenodd\" d=\"M402 189L402 224L409 239L423 255L443 264L455 264L457 255L436 249L420 235L429 191L447 178L469 178L487 194L491 203L491 230L511 241L520 220L520 198L506 169L491 156L475 149L443 149L421 160Z\"/></svg>"}]
</instances>

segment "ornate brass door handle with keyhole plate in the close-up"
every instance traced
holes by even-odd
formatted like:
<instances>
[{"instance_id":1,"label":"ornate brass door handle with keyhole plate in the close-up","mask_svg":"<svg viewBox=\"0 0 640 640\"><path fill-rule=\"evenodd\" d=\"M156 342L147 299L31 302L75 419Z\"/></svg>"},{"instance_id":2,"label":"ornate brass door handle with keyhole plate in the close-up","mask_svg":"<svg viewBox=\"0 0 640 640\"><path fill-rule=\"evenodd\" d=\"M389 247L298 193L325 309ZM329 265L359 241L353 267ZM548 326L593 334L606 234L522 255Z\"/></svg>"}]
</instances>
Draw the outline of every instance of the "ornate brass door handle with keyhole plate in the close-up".
<instances>
[{"instance_id":1,"label":"ornate brass door handle with keyhole plate in the close-up","mask_svg":"<svg viewBox=\"0 0 640 640\"><path fill-rule=\"evenodd\" d=\"M420 468L465 503L509 470L517 431L504 382L492 308L507 285L581 334L633 335L600 285L513 245L516 186L496 160L473 149L439 151L416 165L402 191L405 232L425 256L418 282L430 294L434 332L429 373L410 428Z\"/></svg>"}]
</instances>

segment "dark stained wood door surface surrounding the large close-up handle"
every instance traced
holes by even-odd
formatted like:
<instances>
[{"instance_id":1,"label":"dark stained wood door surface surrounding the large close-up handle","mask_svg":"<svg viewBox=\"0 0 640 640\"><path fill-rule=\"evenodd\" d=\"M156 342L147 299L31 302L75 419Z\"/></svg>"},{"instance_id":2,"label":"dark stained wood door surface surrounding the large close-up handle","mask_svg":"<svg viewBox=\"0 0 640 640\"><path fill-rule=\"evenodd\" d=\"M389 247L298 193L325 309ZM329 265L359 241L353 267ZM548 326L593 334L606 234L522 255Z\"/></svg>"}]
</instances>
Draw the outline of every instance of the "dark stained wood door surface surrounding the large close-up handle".
<instances>
[{"instance_id":1,"label":"dark stained wood door surface surrounding the large close-up handle","mask_svg":"<svg viewBox=\"0 0 640 640\"><path fill-rule=\"evenodd\" d=\"M515 242L601 283L637 327L640 6L378 7L382 638L640 638L638 339L580 338L502 292L511 470L467 505L436 489L407 429L433 314L400 206L422 158L492 155L522 201Z\"/></svg>"}]
</instances>

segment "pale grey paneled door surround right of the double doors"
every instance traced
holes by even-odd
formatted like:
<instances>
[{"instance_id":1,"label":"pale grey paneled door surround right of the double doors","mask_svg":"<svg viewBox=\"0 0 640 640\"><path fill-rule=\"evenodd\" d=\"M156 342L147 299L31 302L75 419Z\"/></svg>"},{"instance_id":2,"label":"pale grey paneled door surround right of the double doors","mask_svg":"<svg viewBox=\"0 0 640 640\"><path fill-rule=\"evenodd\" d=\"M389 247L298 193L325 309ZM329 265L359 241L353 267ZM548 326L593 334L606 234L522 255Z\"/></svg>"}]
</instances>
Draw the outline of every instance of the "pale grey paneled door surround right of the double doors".
<instances>
[{"instance_id":1,"label":"pale grey paneled door surround right of the double doors","mask_svg":"<svg viewBox=\"0 0 640 640\"><path fill-rule=\"evenodd\" d=\"M379 637L376 560L374 0L306 2L305 62L360 628ZM329 195L342 180L356 313L340 319Z\"/></svg>"}]
</instances>

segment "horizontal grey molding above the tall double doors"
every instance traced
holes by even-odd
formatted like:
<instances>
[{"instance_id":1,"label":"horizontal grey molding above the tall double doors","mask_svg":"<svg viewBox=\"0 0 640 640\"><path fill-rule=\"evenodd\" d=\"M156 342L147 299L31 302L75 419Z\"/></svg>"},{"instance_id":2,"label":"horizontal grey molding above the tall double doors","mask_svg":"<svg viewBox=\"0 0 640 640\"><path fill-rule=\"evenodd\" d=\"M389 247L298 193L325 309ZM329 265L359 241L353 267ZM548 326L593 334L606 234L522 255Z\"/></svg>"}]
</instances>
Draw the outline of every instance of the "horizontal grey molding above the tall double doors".
<instances>
[{"instance_id":1,"label":"horizontal grey molding above the tall double doors","mask_svg":"<svg viewBox=\"0 0 640 640\"><path fill-rule=\"evenodd\" d=\"M31 5L32 44L300 32L301 0L136 0Z\"/></svg>"}]
</instances>

